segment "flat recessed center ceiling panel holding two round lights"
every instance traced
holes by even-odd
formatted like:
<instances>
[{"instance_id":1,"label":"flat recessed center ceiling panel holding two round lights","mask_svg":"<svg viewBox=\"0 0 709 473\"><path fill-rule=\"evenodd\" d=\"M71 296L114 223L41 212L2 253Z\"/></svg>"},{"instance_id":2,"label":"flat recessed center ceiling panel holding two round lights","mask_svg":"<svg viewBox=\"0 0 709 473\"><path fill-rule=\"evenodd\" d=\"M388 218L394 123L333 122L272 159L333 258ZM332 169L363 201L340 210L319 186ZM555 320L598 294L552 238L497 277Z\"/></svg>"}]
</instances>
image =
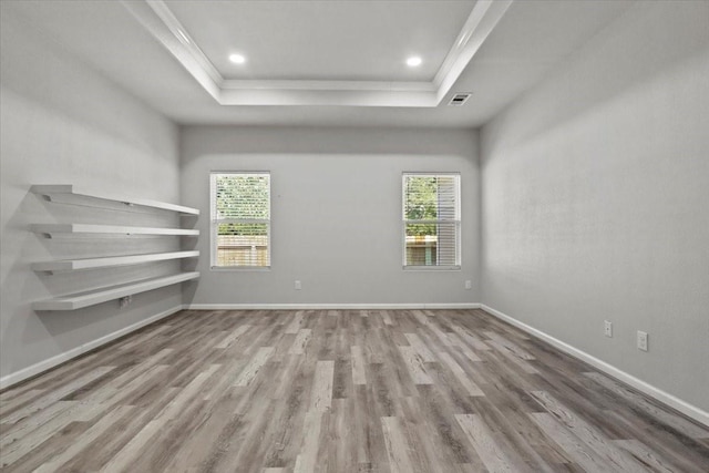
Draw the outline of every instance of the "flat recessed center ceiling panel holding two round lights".
<instances>
[{"instance_id":1,"label":"flat recessed center ceiling panel holding two round lights","mask_svg":"<svg viewBox=\"0 0 709 473\"><path fill-rule=\"evenodd\" d=\"M432 81L475 2L165 2L225 79ZM230 51L248 62L233 64ZM409 68L405 59L425 61Z\"/></svg>"}]
</instances>

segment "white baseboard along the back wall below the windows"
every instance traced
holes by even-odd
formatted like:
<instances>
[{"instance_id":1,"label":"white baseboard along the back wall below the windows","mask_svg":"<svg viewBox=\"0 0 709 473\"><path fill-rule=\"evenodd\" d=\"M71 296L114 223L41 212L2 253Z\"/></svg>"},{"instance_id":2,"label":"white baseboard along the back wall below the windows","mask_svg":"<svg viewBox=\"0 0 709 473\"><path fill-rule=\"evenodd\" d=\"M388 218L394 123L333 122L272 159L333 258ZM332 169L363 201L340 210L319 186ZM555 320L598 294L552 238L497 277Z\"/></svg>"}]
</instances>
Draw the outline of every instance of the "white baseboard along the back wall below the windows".
<instances>
[{"instance_id":1,"label":"white baseboard along the back wall below the windows","mask_svg":"<svg viewBox=\"0 0 709 473\"><path fill-rule=\"evenodd\" d=\"M480 304L192 304L188 310L411 310L480 309Z\"/></svg>"}]
</instances>

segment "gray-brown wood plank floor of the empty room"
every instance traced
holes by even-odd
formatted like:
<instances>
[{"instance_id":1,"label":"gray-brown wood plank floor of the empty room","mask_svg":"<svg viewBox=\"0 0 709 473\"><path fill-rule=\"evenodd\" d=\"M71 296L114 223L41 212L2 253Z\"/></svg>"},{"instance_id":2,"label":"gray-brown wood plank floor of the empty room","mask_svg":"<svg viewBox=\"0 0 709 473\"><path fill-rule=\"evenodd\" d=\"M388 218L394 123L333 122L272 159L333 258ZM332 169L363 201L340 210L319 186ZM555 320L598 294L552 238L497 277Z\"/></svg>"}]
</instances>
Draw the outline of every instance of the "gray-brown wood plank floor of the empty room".
<instances>
[{"instance_id":1,"label":"gray-brown wood plank floor of the empty room","mask_svg":"<svg viewBox=\"0 0 709 473\"><path fill-rule=\"evenodd\" d=\"M183 311L0 393L1 471L709 472L709 430L481 310Z\"/></svg>"}]
</instances>

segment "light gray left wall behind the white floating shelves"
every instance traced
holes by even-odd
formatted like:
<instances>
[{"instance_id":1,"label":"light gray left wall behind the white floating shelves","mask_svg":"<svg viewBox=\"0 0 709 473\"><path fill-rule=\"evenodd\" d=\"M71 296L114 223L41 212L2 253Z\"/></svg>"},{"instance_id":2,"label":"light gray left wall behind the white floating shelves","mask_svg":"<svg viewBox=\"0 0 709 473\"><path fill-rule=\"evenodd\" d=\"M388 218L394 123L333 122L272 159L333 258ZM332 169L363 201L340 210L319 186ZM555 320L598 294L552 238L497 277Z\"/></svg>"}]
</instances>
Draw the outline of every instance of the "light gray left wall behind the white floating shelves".
<instances>
[{"instance_id":1,"label":"light gray left wall behind the white floating shelves","mask_svg":"<svg viewBox=\"0 0 709 473\"><path fill-rule=\"evenodd\" d=\"M172 273L174 264L49 276L33 261L178 247L173 238L45 239L32 223L171 225L172 214L131 214L47 203L32 184L75 184L104 193L177 202L177 127L45 41L3 9L0 97L0 380L50 368L111 333L182 302L178 286L72 312L34 312L53 295Z\"/></svg>"}]
</instances>

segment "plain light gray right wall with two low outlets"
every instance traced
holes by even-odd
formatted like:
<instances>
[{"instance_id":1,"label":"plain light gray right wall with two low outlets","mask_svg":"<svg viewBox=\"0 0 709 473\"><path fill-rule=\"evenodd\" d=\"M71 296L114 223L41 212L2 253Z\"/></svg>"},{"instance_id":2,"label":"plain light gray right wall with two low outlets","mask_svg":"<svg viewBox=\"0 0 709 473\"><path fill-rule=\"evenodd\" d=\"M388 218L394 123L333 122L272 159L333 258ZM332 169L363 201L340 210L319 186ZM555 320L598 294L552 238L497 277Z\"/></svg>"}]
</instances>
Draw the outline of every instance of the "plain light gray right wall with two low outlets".
<instances>
[{"instance_id":1,"label":"plain light gray right wall with two low outlets","mask_svg":"<svg viewBox=\"0 0 709 473\"><path fill-rule=\"evenodd\" d=\"M638 2L481 134L482 301L705 411L708 18Z\"/></svg>"}]
</instances>

